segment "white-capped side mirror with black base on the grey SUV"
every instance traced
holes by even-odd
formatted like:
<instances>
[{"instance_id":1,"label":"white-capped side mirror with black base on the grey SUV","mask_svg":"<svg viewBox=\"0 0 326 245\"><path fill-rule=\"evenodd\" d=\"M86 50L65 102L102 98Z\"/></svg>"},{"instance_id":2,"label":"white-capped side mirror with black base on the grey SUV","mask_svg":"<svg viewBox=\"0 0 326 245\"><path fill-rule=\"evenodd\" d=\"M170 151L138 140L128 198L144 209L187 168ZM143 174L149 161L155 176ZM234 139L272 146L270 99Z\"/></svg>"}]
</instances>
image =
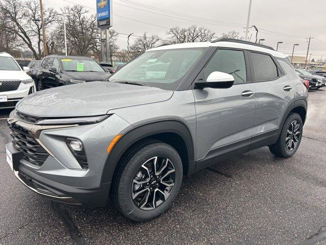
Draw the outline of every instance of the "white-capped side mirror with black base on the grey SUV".
<instances>
[{"instance_id":1,"label":"white-capped side mirror with black base on the grey SUV","mask_svg":"<svg viewBox=\"0 0 326 245\"><path fill-rule=\"evenodd\" d=\"M196 81L197 88L231 88L234 78L230 74L213 71L207 78L207 81Z\"/></svg>"}]
</instances>

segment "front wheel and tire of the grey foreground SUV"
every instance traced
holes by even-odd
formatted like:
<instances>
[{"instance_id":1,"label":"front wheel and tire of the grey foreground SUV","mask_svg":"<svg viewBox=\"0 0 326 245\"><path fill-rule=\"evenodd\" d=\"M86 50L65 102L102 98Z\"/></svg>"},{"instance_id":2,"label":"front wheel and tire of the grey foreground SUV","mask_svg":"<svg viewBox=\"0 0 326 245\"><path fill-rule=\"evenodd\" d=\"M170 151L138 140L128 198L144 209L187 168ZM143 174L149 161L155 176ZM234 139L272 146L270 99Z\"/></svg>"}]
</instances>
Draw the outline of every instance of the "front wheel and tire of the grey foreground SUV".
<instances>
[{"instance_id":1,"label":"front wheel and tire of the grey foreground SUV","mask_svg":"<svg viewBox=\"0 0 326 245\"><path fill-rule=\"evenodd\" d=\"M120 162L113 180L112 198L121 213L138 222L166 211L179 192L182 161L169 144L141 142Z\"/></svg>"}]
</instances>

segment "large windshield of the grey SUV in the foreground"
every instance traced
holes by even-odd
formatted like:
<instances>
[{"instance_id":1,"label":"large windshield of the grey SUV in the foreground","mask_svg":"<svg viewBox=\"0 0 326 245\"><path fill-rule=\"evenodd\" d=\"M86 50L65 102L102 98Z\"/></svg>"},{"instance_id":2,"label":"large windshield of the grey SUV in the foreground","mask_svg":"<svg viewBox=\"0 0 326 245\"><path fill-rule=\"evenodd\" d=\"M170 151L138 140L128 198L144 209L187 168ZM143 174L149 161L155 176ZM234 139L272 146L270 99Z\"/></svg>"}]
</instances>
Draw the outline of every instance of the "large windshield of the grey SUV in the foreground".
<instances>
[{"instance_id":1,"label":"large windshield of the grey SUV in the foreground","mask_svg":"<svg viewBox=\"0 0 326 245\"><path fill-rule=\"evenodd\" d=\"M110 77L110 82L140 82L174 90L205 48L145 52Z\"/></svg>"}]
</instances>

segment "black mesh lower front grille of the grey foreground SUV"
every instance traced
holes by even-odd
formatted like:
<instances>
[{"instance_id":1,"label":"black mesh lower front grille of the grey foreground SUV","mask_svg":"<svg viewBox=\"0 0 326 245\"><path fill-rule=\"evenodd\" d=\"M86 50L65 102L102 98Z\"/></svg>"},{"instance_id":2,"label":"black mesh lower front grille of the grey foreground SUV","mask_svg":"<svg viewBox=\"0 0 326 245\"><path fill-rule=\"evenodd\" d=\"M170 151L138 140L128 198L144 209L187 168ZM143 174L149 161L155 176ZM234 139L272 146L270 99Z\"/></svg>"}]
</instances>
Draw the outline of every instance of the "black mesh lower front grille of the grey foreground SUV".
<instances>
[{"instance_id":1,"label":"black mesh lower front grille of the grey foreground SUV","mask_svg":"<svg viewBox=\"0 0 326 245\"><path fill-rule=\"evenodd\" d=\"M34 135L18 125L13 125L10 129L11 141L24 154L24 159L42 166L49 154L34 139Z\"/></svg>"}]
</instances>

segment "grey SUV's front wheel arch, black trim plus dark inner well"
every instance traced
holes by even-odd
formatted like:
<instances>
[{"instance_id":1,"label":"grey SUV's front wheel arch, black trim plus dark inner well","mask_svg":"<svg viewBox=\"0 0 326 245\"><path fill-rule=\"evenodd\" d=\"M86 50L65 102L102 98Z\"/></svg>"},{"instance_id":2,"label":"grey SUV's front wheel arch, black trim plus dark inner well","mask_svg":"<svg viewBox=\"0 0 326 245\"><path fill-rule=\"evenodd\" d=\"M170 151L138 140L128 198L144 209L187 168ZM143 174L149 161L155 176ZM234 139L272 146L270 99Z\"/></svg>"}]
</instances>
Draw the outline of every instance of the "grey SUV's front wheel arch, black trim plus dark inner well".
<instances>
[{"instance_id":1,"label":"grey SUV's front wheel arch, black trim plus dark inner well","mask_svg":"<svg viewBox=\"0 0 326 245\"><path fill-rule=\"evenodd\" d=\"M181 157L184 174L194 173L195 151L192 135L182 121L168 119L149 122L124 133L106 158L101 183L111 182L120 159L135 144L146 139L160 140L173 146Z\"/></svg>"}]
</instances>

